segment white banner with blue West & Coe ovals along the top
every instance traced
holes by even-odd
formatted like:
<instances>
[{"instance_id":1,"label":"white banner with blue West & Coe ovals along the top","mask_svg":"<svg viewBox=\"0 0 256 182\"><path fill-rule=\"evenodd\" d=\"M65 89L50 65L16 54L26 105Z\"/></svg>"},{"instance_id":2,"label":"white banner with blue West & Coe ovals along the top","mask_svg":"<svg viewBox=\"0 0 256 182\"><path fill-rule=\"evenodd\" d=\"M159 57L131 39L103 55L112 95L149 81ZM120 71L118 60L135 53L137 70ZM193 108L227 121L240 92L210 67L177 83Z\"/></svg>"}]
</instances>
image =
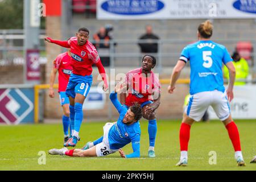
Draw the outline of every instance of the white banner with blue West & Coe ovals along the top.
<instances>
[{"instance_id":1,"label":"white banner with blue West & Coe ovals along the top","mask_svg":"<svg viewBox=\"0 0 256 182\"><path fill-rule=\"evenodd\" d=\"M97 19L256 18L251 0L98 0Z\"/></svg>"}]
</instances>

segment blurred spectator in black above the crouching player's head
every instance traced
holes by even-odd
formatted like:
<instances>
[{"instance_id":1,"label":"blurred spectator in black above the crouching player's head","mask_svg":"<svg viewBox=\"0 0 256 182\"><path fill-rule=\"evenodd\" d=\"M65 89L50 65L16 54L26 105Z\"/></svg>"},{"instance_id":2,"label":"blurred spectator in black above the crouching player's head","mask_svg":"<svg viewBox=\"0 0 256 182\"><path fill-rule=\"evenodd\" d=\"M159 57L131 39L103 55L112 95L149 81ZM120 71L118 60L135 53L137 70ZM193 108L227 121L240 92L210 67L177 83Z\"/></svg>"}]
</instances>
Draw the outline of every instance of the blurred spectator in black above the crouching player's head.
<instances>
[{"instance_id":1,"label":"blurred spectator in black above the crouching player's head","mask_svg":"<svg viewBox=\"0 0 256 182\"><path fill-rule=\"evenodd\" d=\"M152 33L152 26L146 26L146 34L143 34L141 38L139 38L139 40L147 40L147 43L139 43L141 53L157 53L158 43L155 43L155 41L158 39L158 36Z\"/></svg>"}]
</instances>

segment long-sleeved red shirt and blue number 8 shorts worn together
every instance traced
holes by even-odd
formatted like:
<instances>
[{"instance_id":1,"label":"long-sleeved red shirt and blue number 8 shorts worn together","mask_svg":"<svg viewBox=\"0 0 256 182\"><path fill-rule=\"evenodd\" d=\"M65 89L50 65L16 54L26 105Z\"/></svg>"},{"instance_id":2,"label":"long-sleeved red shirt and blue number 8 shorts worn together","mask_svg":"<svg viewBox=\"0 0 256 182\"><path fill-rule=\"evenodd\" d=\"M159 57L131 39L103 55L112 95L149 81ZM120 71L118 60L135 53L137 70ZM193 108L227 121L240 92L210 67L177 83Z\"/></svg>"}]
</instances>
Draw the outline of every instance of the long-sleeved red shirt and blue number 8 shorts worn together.
<instances>
[{"instance_id":1,"label":"long-sleeved red shirt and blue number 8 shorts worn together","mask_svg":"<svg viewBox=\"0 0 256 182\"><path fill-rule=\"evenodd\" d=\"M92 65L96 64L102 80L108 86L106 80L106 73L103 65L101 64L100 57L96 48L89 40L82 46L77 44L77 38L72 37L68 41L59 41L48 38L51 43L71 49L71 66L72 74L69 78L69 83L66 89L67 96L75 98L76 93L87 96L92 85Z\"/></svg>"}]
</instances>

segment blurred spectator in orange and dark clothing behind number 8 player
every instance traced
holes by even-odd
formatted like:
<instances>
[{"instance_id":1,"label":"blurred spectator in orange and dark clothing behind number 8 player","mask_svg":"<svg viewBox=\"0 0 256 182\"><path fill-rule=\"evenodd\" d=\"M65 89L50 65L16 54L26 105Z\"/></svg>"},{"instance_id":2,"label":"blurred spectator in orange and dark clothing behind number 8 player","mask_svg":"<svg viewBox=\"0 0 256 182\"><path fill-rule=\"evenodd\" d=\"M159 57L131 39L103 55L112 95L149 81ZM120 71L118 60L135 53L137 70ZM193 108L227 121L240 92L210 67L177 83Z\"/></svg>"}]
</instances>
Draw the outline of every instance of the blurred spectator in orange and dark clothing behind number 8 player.
<instances>
[{"instance_id":1,"label":"blurred spectator in orange and dark clothing behind number 8 player","mask_svg":"<svg viewBox=\"0 0 256 182\"><path fill-rule=\"evenodd\" d=\"M101 62L104 67L110 65L109 58L109 40L112 39L105 27L100 27L100 30L93 35L95 41L94 46L97 48L98 54L101 56Z\"/></svg>"}]
</instances>

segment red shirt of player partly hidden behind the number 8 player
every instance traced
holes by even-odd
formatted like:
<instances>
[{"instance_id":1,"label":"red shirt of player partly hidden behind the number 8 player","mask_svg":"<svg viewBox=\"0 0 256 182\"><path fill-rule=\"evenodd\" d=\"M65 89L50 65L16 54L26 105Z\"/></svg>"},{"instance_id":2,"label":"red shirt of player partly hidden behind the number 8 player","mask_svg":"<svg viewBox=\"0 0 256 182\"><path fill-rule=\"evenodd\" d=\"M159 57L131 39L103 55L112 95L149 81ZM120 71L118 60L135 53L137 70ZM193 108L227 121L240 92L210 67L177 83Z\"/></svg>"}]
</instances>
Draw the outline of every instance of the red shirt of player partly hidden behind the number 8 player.
<instances>
[{"instance_id":1,"label":"red shirt of player partly hidden behind the number 8 player","mask_svg":"<svg viewBox=\"0 0 256 182\"><path fill-rule=\"evenodd\" d=\"M53 62L53 67L59 72L59 92L65 92L67 88L69 76L72 73L71 60L68 52L64 52L58 55Z\"/></svg>"}]
</instances>

